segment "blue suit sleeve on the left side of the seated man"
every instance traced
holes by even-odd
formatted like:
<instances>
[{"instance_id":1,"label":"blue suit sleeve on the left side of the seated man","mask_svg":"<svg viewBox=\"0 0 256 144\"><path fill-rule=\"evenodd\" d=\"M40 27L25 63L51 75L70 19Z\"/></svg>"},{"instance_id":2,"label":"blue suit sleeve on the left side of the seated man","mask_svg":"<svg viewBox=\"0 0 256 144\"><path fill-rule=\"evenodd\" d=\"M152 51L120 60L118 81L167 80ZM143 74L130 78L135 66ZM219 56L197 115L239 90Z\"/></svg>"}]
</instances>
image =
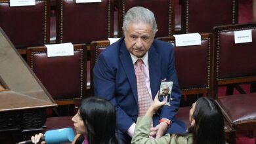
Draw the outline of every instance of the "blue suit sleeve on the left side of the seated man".
<instances>
[{"instance_id":1,"label":"blue suit sleeve on the left side of the seated man","mask_svg":"<svg viewBox=\"0 0 256 144\"><path fill-rule=\"evenodd\" d=\"M114 67L111 60L106 60L104 55L100 55L93 71L95 96L107 99L114 105L117 115L117 128L121 132L127 132L128 128L133 124L133 120L119 107L116 101L116 67Z\"/></svg>"}]
</instances>

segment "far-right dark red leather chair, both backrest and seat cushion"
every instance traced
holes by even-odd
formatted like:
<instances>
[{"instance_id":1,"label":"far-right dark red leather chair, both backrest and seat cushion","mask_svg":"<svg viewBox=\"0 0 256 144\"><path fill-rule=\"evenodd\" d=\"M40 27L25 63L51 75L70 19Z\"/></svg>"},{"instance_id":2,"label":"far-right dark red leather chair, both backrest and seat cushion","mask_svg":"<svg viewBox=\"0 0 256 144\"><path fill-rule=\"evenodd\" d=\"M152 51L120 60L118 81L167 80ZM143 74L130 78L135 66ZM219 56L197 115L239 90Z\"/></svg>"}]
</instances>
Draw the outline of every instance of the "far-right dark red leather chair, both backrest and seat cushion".
<instances>
[{"instance_id":1,"label":"far-right dark red leather chair, both backrest and seat cushion","mask_svg":"<svg viewBox=\"0 0 256 144\"><path fill-rule=\"evenodd\" d=\"M252 42L234 43L234 31L241 30L251 31ZM256 23L217 26L214 28L214 36L217 84L256 82ZM255 101L255 93L217 99L226 120L236 130L249 131L256 129Z\"/></svg>"}]
</instances>

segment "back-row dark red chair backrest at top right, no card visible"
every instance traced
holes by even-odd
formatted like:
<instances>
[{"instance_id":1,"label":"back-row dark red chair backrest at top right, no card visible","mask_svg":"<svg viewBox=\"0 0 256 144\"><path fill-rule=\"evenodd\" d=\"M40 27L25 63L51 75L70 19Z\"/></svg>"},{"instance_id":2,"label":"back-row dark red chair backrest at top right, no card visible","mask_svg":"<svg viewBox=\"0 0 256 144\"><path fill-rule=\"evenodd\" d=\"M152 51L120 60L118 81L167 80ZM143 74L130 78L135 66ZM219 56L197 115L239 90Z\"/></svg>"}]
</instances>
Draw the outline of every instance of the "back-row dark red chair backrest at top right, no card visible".
<instances>
[{"instance_id":1,"label":"back-row dark red chair backrest at top right, no card visible","mask_svg":"<svg viewBox=\"0 0 256 144\"><path fill-rule=\"evenodd\" d=\"M182 0L182 31L209 33L214 26L238 23L238 0Z\"/></svg>"}]
</instances>

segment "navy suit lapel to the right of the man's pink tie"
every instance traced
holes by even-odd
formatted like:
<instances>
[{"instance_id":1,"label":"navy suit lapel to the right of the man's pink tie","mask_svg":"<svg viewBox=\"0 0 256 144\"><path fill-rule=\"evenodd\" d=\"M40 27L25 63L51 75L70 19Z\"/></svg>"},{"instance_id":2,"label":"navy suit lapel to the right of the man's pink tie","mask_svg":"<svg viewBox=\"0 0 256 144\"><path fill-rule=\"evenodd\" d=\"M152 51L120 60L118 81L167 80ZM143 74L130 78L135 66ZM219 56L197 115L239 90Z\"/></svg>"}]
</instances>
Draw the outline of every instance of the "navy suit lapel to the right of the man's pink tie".
<instances>
[{"instance_id":1,"label":"navy suit lapel to the right of the man's pink tie","mask_svg":"<svg viewBox=\"0 0 256 144\"><path fill-rule=\"evenodd\" d=\"M154 45L151 46L150 50L148 50L148 65L149 65L149 73L150 73L150 88L152 93L152 98L154 99L156 93L160 88L160 60L158 53L156 52L156 47Z\"/></svg>"}]
</instances>

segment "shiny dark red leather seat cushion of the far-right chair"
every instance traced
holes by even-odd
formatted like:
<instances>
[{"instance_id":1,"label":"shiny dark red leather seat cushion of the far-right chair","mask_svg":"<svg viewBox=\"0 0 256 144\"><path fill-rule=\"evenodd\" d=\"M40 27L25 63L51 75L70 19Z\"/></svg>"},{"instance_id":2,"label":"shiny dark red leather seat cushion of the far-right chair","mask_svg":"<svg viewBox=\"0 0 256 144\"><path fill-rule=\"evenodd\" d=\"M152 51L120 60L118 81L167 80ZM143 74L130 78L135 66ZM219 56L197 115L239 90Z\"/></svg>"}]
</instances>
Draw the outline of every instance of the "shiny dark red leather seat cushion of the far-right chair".
<instances>
[{"instance_id":1,"label":"shiny dark red leather seat cushion of the far-right chair","mask_svg":"<svg viewBox=\"0 0 256 144\"><path fill-rule=\"evenodd\" d=\"M256 121L256 93L223 96L217 103L224 115L233 124Z\"/></svg>"}]
</instances>

